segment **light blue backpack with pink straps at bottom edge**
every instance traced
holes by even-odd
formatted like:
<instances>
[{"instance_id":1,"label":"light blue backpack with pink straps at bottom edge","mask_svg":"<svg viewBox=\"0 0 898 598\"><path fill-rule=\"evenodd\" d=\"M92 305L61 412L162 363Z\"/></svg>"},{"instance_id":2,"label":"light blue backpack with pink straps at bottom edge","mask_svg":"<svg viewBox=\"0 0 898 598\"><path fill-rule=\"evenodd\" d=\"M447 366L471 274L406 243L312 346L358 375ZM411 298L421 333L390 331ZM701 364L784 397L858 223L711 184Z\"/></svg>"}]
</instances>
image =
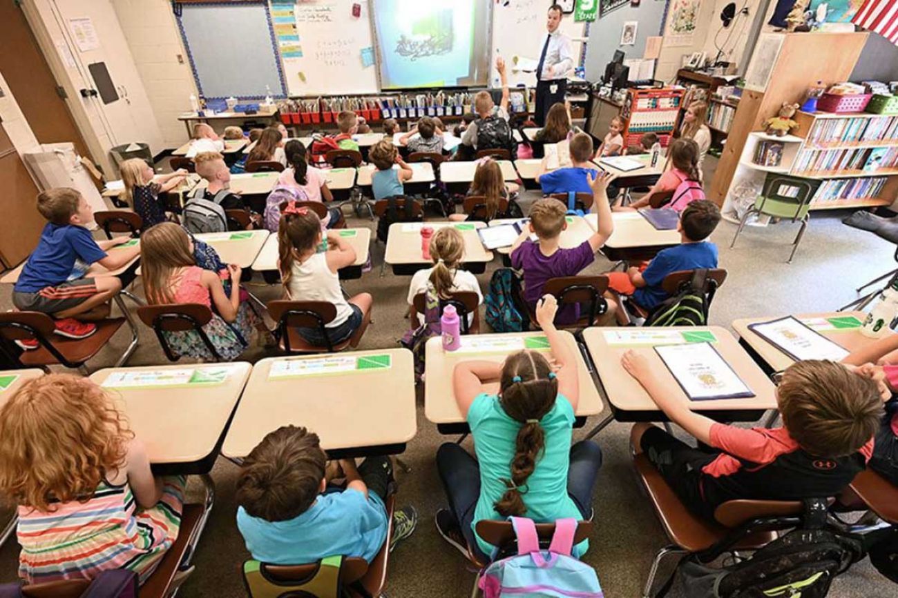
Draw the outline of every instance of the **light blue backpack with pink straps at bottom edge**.
<instances>
[{"instance_id":1,"label":"light blue backpack with pink straps at bottom edge","mask_svg":"<svg viewBox=\"0 0 898 598\"><path fill-rule=\"evenodd\" d=\"M577 520L559 519L549 550L540 549L532 519L509 517L517 554L496 560L480 576L484 598L503 596L581 596L602 598L595 569L571 556ZM494 555L496 556L496 555Z\"/></svg>"}]
</instances>

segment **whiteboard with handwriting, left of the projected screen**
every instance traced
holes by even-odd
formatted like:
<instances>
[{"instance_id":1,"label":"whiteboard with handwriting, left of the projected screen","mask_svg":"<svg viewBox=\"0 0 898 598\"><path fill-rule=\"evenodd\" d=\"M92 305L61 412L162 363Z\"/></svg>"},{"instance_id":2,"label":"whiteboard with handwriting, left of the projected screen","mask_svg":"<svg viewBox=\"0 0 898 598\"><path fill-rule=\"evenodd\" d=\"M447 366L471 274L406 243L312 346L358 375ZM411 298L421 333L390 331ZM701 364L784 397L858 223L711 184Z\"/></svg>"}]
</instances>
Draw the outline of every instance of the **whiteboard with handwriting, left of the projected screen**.
<instances>
[{"instance_id":1,"label":"whiteboard with handwriting, left of the projected screen","mask_svg":"<svg viewBox=\"0 0 898 598\"><path fill-rule=\"evenodd\" d=\"M361 5L358 17L353 4ZM292 9L303 56L283 58L291 96L379 91L376 65L362 63L362 49L374 47L367 0L303 0Z\"/></svg>"}]
</instances>

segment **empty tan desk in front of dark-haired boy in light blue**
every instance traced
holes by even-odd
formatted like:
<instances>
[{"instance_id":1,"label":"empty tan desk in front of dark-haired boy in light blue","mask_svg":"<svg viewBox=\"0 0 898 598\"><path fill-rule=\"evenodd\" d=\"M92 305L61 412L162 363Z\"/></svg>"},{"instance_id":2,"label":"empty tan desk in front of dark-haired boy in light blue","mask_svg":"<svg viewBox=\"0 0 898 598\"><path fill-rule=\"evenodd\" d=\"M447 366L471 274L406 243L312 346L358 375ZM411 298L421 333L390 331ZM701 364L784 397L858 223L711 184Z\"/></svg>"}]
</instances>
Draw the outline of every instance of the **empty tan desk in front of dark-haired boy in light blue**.
<instances>
[{"instance_id":1,"label":"empty tan desk in front of dark-haired boy in light blue","mask_svg":"<svg viewBox=\"0 0 898 598\"><path fill-rule=\"evenodd\" d=\"M293 377L269 377L295 362ZM418 429L411 351L382 349L260 360L233 416L222 453L249 455L269 432L293 424L321 438L331 459L397 455Z\"/></svg>"}]
</instances>

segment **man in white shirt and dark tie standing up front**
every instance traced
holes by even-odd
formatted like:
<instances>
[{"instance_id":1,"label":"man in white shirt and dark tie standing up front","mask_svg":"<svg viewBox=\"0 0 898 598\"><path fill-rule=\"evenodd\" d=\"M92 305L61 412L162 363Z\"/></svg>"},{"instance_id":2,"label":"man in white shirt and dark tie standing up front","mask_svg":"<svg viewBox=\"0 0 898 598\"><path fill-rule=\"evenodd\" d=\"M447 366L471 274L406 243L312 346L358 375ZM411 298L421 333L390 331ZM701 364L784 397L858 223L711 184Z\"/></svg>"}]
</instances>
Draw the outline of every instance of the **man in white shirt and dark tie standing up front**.
<instances>
[{"instance_id":1,"label":"man in white shirt and dark tie standing up front","mask_svg":"<svg viewBox=\"0 0 898 598\"><path fill-rule=\"evenodd\" d=\"M574 65L570 49L570 38L559 30L561 7L552 4L547 13L545 43L542 44L540 62L536 65L536 113L533 119L539 126L546 123L546 113L556 102L564 103L568 89L566 74Z\"/></svg>"}]
</instances>

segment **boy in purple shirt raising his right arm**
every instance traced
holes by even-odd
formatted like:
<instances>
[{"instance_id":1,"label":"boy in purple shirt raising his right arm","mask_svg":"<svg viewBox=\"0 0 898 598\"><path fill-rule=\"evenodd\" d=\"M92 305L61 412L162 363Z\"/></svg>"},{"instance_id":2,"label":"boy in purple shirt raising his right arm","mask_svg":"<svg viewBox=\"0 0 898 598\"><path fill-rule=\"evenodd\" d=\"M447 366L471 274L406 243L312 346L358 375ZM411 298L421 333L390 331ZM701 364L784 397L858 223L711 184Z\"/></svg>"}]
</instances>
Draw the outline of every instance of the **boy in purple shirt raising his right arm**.
<instances>
[{"instance_id":1,"label":"boy in purple shirt raising his right arm","mask_svg":"<svg viewBox=\"0 0 898 598\"><path fill-rule=\"evenodd\" d=\"M589 184L598 221L598 230L578 247L559 247L561 232L568 228L565 206L557 199L538 200L530 210L530 223L511 247L511 265L524 273L524 300L535 306L541 298L546 281L559 276L576 276L592 264L598 251L612 235L614 223L608 207L606 188L613 180L607 173L592 178ZM530 240L536 233L537 241ZM576 322L580 317L578 304L559 309L559 324Z\"/></svg>"}]
</instances>

